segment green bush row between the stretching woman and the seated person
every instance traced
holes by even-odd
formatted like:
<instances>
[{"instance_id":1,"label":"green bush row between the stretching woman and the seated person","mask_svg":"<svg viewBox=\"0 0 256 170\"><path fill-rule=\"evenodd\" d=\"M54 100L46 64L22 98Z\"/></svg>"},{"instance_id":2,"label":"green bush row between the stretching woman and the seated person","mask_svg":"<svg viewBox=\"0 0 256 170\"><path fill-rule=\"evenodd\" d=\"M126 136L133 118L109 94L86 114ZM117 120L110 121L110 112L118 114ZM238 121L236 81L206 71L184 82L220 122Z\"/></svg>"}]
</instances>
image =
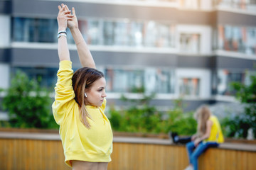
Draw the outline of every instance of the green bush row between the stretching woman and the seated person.
<instances>
[{"instance_id":1,"label":"green bush row between the stretching woman and the seated person","mask_svg":"<svg viewBox=\"0 0 256 170\"><path fill-rule=\"evenodd\" d=\"M167 133L171 130L181 135L193 135L196 132L196 120L193 119L193 113L183 113L178 104L167 113L157 111L154 106L149 106L149 101L153 97L154 95L144 95L141 100L132 101L122 96L123 101L134 104L120 111L110 109L110 122L113 130L145 133Z\"/></svg>"}]
</instances>

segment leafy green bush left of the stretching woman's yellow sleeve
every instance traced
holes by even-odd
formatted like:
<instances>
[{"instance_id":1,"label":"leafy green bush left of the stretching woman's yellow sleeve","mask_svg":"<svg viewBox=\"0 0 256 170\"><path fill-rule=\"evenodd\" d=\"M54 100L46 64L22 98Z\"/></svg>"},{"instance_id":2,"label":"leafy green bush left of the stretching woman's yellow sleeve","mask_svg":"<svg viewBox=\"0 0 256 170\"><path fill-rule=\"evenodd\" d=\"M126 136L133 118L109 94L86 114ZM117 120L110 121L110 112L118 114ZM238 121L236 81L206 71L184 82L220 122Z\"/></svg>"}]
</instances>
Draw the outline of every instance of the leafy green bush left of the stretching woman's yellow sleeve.
<instances>
[{"instance_id":1,"label":"leafy green bush left of the stretching woman's yellow sleeve","mask_svg":"<svg viewBox=\"0 0 256 170\"><path fill-rule=\"evenodd\" d=\"M49 91L18 71L6 89L2 106L9 113L9 123L14 128L56 128L51 113Z\"/></svg>"}]
</instances>

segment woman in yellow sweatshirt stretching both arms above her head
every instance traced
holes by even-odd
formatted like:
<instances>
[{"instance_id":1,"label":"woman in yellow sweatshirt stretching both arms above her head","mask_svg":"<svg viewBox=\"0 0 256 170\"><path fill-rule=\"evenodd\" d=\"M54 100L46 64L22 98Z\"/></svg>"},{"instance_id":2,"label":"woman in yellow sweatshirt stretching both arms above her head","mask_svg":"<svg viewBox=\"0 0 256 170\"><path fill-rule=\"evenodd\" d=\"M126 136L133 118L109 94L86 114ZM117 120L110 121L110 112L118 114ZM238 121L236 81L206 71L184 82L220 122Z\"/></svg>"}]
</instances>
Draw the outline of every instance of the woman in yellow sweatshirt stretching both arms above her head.
<instances>
[{"instance_id":1,"label":"woman in yellow sweatshirt stretching both arms above her head","mask_svg":"<svg viewBox=\"0 0 256 170\"><path fill-rule=\"evenodd\" d=\"M65 163L74 170L106 170L111 161L112 130L104 111L106 81L78 29L75 8L58 6L58 57L53 116L60 125ZM78 49L82 68L73 73L66 28Z\"/></svg>"}]
</instances>

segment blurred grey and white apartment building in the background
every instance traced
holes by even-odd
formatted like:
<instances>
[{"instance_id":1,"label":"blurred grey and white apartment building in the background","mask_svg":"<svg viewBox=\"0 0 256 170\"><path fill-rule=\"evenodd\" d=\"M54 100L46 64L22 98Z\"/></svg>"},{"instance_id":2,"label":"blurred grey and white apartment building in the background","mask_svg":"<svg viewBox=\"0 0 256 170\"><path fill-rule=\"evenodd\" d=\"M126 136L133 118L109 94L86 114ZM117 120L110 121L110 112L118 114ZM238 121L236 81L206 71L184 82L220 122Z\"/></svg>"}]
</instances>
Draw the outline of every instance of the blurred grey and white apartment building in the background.
<instances>
[{"instance_id":1,"label":"blurred grey and white apartment building in the background","mask_svg":"<svg viewBox=\"0 0 256 170\"><path fill-rule=\"evenodd\" d=\"M231 81L250 83L256 67L255 0L1 0L0 88L11 72L42 77L53 87L58 71L57 6L74 6L80 30L105 73L109 105L120 96L141 98L162 110L183 98L233 102ZM73 68L80 63L68 31Z\"/></svg>"}]
</instances>

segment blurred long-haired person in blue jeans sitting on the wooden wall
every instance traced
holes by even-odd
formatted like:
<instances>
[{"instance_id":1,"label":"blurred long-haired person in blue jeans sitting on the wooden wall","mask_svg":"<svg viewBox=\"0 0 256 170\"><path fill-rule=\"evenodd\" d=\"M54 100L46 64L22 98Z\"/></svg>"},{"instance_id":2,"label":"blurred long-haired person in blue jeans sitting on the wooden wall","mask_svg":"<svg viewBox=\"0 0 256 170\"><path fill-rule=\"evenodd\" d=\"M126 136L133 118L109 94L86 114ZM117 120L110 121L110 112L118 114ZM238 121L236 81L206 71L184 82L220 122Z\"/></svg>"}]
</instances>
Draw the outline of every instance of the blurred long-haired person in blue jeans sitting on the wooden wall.
<instances>
[{"instance_id":1,"label":"blurred long-haired person in blue jeans sitting on the wooden wall","mask_svg":"<svg viewBox=\"0 0 256 170\"><path fill-rule=\"evenodd\" d=\"M198 170L198 157L209 147L218 147L224 142L220 123L215 115L211 115L207 106L202 106L196 111L198 121L197 134L193 135L193 141L186 144L189 166L186 170Z\"/></svg>"}]
</instances>

